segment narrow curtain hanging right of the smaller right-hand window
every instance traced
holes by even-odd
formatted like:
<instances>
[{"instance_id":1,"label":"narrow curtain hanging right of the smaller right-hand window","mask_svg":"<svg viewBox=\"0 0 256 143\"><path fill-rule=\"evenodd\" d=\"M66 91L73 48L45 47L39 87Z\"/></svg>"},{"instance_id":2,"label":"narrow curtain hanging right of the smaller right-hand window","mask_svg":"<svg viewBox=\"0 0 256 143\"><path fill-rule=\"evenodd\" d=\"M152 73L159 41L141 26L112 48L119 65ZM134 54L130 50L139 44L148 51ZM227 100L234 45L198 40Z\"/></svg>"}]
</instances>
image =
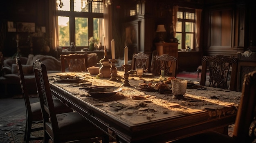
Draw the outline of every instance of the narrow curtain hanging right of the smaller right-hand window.
<instances>
[{"instance_id":1,"label":"narrow curtain hanging right of the smaller right-hand window","mask_svg":"<svg viewBox=\"0 0 256 143\"><path fill-rule=\"evenodd\" d=\"M196 51L199 51L200 44L200 27L202 19L202 9L195 9L195 42L196 42Z\"/></svg>"}]
</instances>

